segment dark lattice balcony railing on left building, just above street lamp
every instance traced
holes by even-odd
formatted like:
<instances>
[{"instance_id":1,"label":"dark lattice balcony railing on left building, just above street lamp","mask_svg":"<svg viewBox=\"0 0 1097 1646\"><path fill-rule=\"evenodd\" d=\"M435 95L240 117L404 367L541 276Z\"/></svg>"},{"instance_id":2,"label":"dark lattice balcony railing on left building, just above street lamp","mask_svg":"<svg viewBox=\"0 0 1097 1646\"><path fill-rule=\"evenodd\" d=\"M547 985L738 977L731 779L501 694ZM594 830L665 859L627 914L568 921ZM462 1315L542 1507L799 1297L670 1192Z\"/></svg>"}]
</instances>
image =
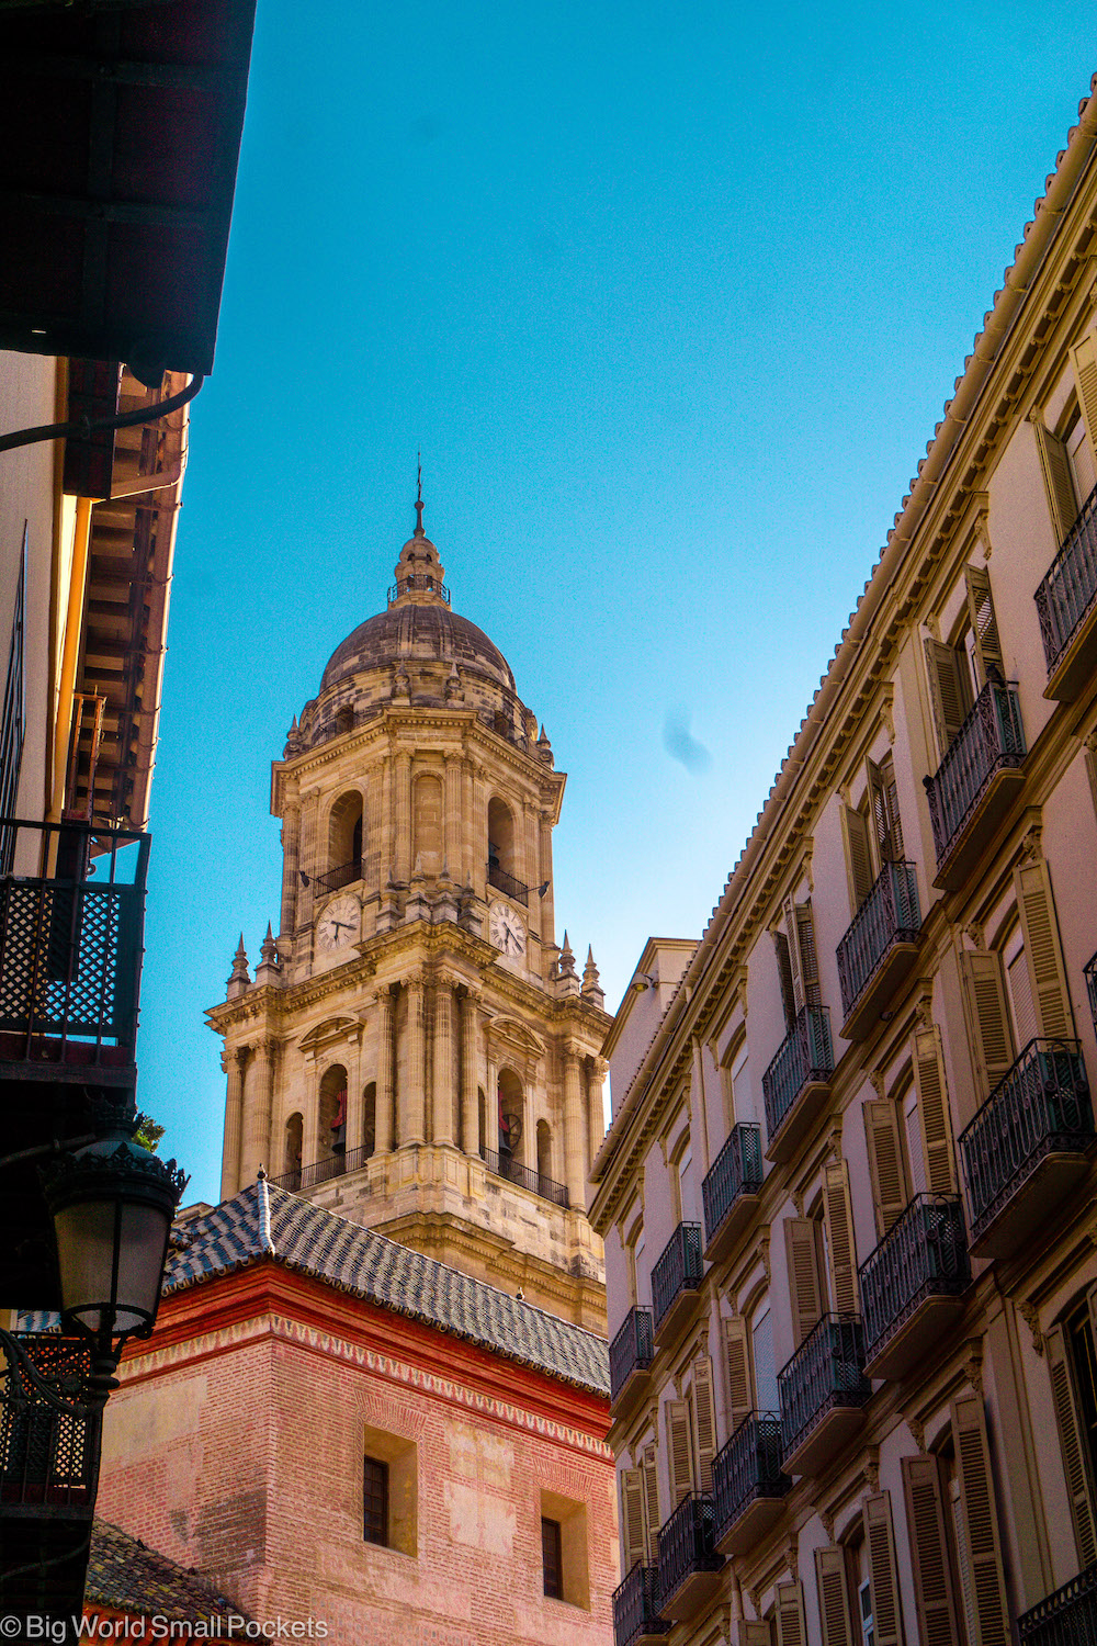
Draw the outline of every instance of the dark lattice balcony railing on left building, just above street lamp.
<instances>
[{"instance_id":1,"label":"dark lattice balcony railing on left building, just above street lamp","mask_svg":"<svg viewBox=\"0 0 1097 1646\"><path fill-rule=\"evenodd\" d=\"M0 1057L132 1063L148 835L0 818ZM8 1039L12 1037L12 1039Z\"/></svg>"}]
</instances>

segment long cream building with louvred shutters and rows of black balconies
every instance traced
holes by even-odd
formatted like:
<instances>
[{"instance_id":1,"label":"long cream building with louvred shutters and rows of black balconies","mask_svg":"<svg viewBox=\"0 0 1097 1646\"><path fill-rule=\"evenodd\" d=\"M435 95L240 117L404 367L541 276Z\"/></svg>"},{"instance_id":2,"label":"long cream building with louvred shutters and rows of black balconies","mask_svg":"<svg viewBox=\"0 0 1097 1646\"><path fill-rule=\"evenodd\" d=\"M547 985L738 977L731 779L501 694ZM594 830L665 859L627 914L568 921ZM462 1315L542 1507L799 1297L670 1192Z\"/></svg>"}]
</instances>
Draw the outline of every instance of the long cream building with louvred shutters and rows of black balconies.
<instances>
[{"instance_id":1,"label":"long cream building with louvred shutters and rows of black balconies","mask_svg":"<svg viewBox=\"0 0 1097 1646\"><path fill-rule=\"evenodd\" d=\"M607 1040L617 1646L1097 1639L1095 146Z\"/></svg>"}]
</instances>

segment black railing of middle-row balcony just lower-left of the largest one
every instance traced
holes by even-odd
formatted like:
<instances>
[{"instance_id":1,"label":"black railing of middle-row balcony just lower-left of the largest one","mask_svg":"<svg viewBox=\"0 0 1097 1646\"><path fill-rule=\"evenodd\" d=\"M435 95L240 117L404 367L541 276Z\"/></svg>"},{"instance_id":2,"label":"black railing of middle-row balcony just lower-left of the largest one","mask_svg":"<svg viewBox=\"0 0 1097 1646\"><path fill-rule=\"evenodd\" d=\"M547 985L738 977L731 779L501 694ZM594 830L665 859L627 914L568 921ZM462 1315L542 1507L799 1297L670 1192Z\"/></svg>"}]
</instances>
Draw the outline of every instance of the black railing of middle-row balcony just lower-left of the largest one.
<instances>
[{"instance_id":1,"label":"black railing of middle-row balcony just lower-left of the largest one","mask_svg":"<svg viewBox=\"0 0 1097 1646\"><path fill-rule=\"evenodd\" d=\"M926 1297L959 1297L972 1284L959 1195L916 1195L859 1271L865 1358Z\"/></svg>"}]
</instances>

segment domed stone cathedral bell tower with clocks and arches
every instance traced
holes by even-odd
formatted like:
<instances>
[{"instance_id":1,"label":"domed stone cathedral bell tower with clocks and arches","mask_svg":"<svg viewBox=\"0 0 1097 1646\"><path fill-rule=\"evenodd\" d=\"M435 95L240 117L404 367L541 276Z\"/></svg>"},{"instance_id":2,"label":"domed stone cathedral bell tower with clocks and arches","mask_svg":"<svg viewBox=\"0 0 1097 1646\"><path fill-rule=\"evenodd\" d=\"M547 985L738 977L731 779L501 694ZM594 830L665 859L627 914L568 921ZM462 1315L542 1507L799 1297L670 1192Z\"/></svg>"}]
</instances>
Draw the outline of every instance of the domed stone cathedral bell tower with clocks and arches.
<instances>
[{"instance_id":1,"label":"domed stone cathedral bell tower with clocks and arches","mask_svg":"<svg viewBox=\"0 0 1097 1646\"><path fill-rule=\"evenodd\" d=\"M281 920L209 1012L222 1197L285 1188L605 1330L586 1182L610 1017L553 930L564 774L451 611L416 502L388 609L336 649L273 762Z\"/></svg>"}]
</instances>

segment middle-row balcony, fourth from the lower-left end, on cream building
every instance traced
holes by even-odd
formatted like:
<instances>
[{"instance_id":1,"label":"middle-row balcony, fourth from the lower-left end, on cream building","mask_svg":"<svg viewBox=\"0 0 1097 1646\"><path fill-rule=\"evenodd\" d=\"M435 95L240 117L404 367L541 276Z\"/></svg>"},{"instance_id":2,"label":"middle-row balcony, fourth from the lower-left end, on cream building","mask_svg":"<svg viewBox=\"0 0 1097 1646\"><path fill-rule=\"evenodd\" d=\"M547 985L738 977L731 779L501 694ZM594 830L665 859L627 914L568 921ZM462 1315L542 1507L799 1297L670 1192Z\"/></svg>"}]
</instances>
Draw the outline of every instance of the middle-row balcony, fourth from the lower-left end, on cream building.
<instances>
[{"instance_id":1,"label":"middle-row balcony, fourth from the lower-left end, on cream building","mask_svg":"<svg viewBox=\"0 0 1097 1646\"><path fill-rule=\"evenodd\" d=\"M824 1315L776 1381L785 1468L817 1475L865 1420L872 1384L860 1315Z\"/></svg>"}]
</instances>

